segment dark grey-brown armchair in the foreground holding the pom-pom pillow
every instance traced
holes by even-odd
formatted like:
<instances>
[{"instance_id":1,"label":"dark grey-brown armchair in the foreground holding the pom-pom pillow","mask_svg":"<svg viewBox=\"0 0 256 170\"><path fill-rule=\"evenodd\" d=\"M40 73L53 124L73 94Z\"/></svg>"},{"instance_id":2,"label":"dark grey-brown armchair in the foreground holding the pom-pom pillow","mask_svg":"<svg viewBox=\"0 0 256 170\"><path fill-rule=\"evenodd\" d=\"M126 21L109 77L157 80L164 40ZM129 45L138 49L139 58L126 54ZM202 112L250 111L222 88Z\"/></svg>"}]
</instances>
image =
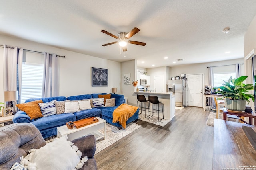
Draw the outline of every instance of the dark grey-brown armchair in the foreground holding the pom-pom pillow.
<instances>
[{"instance_id":1,"label":"dark grey-brown armchair in the foreground holding the pom-pom pillow","mask_svg":"<svg viewBox=\"0 0 256 170\"><path fill-rule=\"evenodd\" d=\"M96 150L95 137L88 135L72 141L82 152L82 157L88 156L88 161L80 170L96 170L94 159ZM46 145L40 131L31 123L14 123L0 128L0 169L9 170L15 162L20 162L20 156L26 156L31 148L39 149Z\"/></svg>"}]
</instances>

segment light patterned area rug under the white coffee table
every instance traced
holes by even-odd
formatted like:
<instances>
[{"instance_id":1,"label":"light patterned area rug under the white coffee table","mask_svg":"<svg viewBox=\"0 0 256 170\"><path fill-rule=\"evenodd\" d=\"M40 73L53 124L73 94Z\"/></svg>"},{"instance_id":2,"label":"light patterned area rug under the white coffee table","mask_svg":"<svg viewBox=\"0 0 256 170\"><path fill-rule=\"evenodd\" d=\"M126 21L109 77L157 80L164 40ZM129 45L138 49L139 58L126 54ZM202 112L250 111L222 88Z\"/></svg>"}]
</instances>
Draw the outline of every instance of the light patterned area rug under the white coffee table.
<instances>
[{"instance_id":1,"label":"light patterned area rug under the white coffee table","mask_svg":"<svg viewBox=\"0 0 256 170\"><path fill-rule=\"evenodd\" d=\"M112 125L107 123L107 125L106 125L107 139L106 140L100 139L100 140L96 141L96 146L97 147L96 147L95 154L100 152L101 150L105 149L106 147L112 145L113 143L115 143L119 139L122 139L126 135L132 133L136 129L139 129L140 127L141 127L141 125L138 125L136 123L129 123L126 126L126 129L122 128L121 130L118 130L117 127L112 126ZM100 129L99 131L101 133L104 133L104 129ZM57 136L53 136L53 137L45 139L46 143L52 142L56 137Z\"/></svg>"}]
</instances>

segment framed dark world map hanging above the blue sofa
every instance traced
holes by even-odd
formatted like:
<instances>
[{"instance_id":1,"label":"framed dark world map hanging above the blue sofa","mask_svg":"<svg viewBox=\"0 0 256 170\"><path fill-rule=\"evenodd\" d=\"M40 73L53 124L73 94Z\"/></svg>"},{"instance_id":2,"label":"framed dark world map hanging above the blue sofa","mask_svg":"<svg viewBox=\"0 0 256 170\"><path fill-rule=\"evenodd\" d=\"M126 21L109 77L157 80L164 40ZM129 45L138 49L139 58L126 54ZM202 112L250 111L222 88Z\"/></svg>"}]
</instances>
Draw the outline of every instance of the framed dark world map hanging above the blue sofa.
<instances>
[{"instance_id":1,"label":"framed dark world map hanging above the blue sofa","mask_svg":"<svg viewBox=\"0 0 256 170\"><path fill-rule=\"evenodd\" d=\"M92 86L108 86L108 69L92 67Z\"/></svg>"}]
</instances>

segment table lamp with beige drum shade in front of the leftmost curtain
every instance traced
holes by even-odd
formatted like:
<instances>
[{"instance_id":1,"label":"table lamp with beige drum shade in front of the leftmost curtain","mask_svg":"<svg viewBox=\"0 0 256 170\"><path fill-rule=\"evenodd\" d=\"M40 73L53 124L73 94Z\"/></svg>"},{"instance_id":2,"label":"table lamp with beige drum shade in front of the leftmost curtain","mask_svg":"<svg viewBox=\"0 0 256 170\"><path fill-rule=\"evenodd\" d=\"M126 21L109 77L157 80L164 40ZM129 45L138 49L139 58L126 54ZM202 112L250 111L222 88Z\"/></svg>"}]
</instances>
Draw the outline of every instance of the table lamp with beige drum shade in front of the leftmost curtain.
<instances>
[{"instance_id":1,"label":"table lamp with beige drum shade in front of the leftmost curtain","mask_svg":"<svg viewBox=\"0 0 256 170\"><path fill-rule=\"evenodd\" d=\"M18 100L18 91L5 91L4 101L7 102L6 108L3 109L3 117L10 116L12 113L16 113L15 105ZM9 104L10 102L10 104ZM7 114L6 114L7 113Z\"/></svg>"}]
</instances>

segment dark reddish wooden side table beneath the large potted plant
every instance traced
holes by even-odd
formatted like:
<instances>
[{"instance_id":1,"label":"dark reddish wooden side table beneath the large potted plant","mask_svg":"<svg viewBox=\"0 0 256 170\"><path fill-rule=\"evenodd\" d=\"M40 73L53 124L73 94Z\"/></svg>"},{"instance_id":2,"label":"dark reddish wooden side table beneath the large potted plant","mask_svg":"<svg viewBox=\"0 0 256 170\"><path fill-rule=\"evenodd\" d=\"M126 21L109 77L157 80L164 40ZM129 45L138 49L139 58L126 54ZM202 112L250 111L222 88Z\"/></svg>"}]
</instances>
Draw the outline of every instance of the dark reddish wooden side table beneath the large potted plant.
<instances>
[{"instance_id":1,"label":"dark reddish wooden side table beneath the large potted plant","mask_svg":"<svg viewBox=\"0 0 256 170\"><path fill-rule=\"evenodd\" d=\"M254 125L256 125L256 114L255 113L247 113L244 111L228 111L226 108L223 108L223 120L227 120L227 114L229 115L236 115L236 116L244 116L244 117L249 117L249 123L240 119L246 124L252 125L252 118L254 118Z\"/></svg>"}]
</instances>

